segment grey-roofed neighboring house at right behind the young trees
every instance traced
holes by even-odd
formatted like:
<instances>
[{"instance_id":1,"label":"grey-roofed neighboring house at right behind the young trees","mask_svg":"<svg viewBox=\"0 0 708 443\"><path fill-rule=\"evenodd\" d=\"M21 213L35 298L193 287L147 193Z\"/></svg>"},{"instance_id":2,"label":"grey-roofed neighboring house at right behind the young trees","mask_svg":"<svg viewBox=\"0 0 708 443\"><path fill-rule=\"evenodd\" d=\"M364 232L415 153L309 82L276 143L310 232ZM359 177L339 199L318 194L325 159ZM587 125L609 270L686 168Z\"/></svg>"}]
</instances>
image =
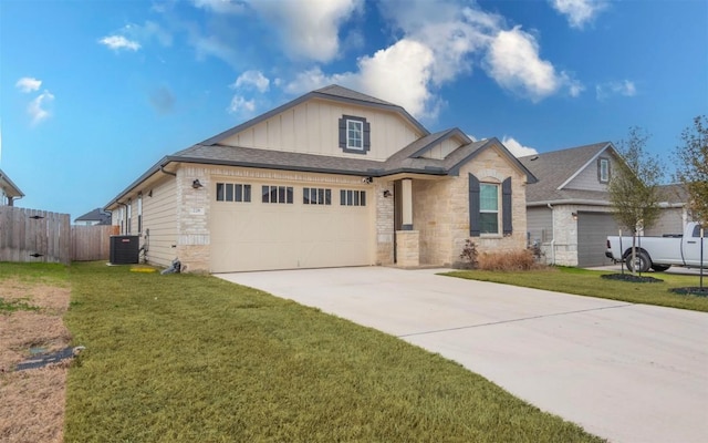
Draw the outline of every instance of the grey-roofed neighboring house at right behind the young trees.
<instances>
[{"instance_id":1,"label":"grey-roofed neighboring house at right behind the young trees","mask_svg":"<svg viewBox=\"0 0 708 443\"><path fill-rule=\"evenodd\" d=\"M529 155L519 161L538 178L527 187L529 241L540 244L545 259L561 266L603 266L606 239L620 227L612 216L607 185L622 157L602 142ZM683 233L688 220L686 193L662 186L666 202L659 219L644 235Z\"/></svg>"}]
</instances>

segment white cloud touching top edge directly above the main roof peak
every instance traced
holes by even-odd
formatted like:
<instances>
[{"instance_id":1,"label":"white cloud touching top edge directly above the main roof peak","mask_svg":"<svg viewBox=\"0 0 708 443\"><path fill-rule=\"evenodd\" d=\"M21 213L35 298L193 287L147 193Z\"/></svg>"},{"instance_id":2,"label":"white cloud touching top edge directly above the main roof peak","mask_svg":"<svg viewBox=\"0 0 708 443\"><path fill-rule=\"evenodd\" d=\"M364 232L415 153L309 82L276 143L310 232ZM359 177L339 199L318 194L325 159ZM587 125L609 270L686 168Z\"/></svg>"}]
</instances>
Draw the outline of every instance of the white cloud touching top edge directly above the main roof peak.
<instances>
[{"instance_id":1,"label":"white cloud touching top edge directly above the main roof peak","mask_svg":"<svg viewBox=\"0 0 708 443\"><path fill-rule=\"evenodd\" d=\"M281 34L293 59L327 62L340 51L340 25L363 7L362 0L251 1Z\"/></svg>"}]
</instances>

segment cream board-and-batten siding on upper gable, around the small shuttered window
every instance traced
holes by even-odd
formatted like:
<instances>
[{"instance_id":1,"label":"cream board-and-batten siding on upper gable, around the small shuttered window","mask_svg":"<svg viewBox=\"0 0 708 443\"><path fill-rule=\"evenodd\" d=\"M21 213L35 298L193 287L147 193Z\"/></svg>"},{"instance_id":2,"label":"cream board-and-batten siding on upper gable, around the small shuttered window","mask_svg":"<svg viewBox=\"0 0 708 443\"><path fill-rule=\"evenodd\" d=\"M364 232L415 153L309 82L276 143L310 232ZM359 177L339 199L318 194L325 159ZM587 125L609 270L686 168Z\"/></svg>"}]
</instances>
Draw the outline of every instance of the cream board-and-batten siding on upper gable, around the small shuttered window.
<instances>
[{"instance_id":1,"label":"cream board-and-batten siding on upper gable, around the small shuttered window","mask_svg":"<svg viewBox=\"0 0 708 443\"><path fill-rule=\"evenodd\" d=\"M339 145L339 120L343 115L364 117L371 124L371 151L347 154ZM227 137L221 144L385 161L423 136L400 115L384 110L311 100Z\"/></svg>"}]
</instances>

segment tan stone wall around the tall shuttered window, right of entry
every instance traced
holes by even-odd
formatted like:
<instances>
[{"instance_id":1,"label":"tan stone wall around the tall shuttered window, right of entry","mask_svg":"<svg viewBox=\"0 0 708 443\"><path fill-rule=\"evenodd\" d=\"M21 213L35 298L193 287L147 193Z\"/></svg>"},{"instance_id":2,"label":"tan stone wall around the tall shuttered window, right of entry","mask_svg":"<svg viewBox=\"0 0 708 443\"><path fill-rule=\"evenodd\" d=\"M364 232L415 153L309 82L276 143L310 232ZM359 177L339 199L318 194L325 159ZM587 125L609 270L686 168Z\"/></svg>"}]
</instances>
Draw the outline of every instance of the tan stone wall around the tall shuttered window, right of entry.
<instances>
[{"instance_id":1,"label":"tan stone wall around the tall shuttered window, right of entry","mask_svg":"<svg viewBox=\"0 0 708 443\"><path fill-rule=\"evenodd\" d=\"M469 236L469 179L501 182L512 177L511 236L471 237L479 253L525 248L527 177L496 148L488 148L460 168L459 175L437 181L414 181L413 228L420 231L420 264L449 266Z\"/></svg>"}]
</instances>

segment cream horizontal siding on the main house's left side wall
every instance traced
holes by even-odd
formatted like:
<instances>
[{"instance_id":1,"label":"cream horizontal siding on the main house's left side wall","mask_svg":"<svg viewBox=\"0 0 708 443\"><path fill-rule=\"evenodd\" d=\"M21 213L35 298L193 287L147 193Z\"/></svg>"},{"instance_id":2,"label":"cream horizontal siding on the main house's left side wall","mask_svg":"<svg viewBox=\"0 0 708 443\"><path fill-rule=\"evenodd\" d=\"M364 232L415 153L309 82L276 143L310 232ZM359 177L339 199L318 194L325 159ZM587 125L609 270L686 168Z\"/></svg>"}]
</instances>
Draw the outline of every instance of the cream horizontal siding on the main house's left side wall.
<instances>
[{"instance_id":1,"label":"cream horizontal siding on the main house's left side wall","mask_svg":"<svg viewBox=\"0 0 708 443\"><path fill-rule=\"evenodd\" d=\"M133 218L136 219L137 226L137 213ZM169 266L177 257L177 193L174 177L143 193L140 246L145 245L145 241L148 243L146 257L150 265Z\"/></svg>"}]
</instances>

